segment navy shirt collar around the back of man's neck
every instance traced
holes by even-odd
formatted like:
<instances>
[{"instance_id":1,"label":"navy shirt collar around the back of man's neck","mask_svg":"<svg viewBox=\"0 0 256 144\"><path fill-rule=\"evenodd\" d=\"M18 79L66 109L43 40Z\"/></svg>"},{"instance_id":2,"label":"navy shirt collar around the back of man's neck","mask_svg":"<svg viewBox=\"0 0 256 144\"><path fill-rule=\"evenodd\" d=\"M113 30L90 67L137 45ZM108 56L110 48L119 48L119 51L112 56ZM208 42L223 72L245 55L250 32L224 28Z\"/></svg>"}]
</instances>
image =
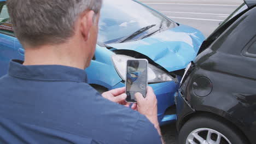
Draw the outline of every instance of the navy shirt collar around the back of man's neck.
<instances>
[{"instance_id":1,"label":"navy shirt collar around the back of man's neck","mask_svg":"<svg viewBox=\"0 0 256 144\"><path fill-rule=\"evenodd\" d=\"M64 65L22 65L11 60L8 75L29 80L87 82L84 70Z\"/></svg>"}]
</instances>

